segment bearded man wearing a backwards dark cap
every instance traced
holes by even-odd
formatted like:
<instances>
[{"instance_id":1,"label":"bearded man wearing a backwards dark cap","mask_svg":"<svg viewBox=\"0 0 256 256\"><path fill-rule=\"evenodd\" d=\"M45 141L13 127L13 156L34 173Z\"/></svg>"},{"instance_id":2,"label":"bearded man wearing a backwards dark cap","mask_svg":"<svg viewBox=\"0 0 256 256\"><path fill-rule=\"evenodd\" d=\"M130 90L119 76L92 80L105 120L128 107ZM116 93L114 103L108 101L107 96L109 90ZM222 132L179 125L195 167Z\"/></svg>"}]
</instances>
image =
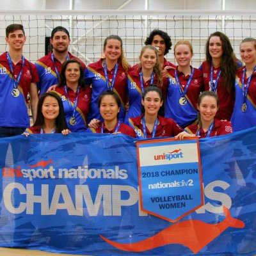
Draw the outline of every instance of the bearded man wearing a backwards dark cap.
<instances>
[{"instance_id":1,"label":"bearded man wearing a backwards dark cap","mask_svg":"<svg viewBox=\"0 0 256 256\"><path fill-rule=\"evenodd\" d=\"M49 87L54 84L58 84L58 78L61 72L61 66L64 61L75 58L68 52L70 44L69 32L66 28L58 26L52 29L50 43L52 51L48 55L40 58L36 61L35 65L38 71L40 81L37 83L37 88L40 91L40 95L45 93ZM79 60L85 69L83 61Z\"/></svg>"}]
</instances>

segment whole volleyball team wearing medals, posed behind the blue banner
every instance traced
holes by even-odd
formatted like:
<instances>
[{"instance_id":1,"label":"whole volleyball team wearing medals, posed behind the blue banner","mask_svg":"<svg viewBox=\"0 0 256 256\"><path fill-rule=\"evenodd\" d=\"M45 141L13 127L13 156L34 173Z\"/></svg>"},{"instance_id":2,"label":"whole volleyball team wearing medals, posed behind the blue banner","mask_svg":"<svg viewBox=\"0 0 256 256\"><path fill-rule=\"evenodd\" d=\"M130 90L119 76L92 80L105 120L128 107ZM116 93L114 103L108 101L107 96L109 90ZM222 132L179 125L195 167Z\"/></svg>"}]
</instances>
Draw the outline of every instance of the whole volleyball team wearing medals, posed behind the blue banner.
<instances>
[{"instance_id":1,"label":"whole volleyball team wearing medals, posed behind the blue banner","mask_svg":"<svg viewBox=\"0 0 256 256\"><path fill-rule=\"evenodd\" d=\"M254 38L240 44L243 65L228 37L212 33L199 68L191 67L193 47L186 40L174 45L177 66L167 61L172 42L159 29L147 37L133 67L118 35L105 39L102 57L87 67L68 52L69 33L61 26L52 30L52 51L35 65L22 56L22 25L6 28L6 42L9 51L0 56L0 137L96 132L182 140L256 125ZM32 127L24 109L28 93Z\"/></svg>"}]
</instances>

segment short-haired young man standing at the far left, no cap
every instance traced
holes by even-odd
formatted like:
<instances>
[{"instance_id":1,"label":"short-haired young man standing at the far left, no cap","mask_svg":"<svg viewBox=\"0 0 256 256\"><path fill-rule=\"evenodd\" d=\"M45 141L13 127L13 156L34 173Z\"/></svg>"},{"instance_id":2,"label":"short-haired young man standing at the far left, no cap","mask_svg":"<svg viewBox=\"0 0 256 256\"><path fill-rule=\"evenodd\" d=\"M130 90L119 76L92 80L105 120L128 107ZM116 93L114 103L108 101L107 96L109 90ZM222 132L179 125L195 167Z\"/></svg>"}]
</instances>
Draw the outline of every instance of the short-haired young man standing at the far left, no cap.
<instances>
[{"instance_id":1,"label":"short-haired young man standing at the far left, no cap","mask_svg":"<svg viewBox=\"0 0 256 256\"><path fill-rule=\"evenodd\" d=\"M9 25L5 40L9 51L0 56L0 138L20 135L30 126L28 93L34 121L38 102L36 67L22 56L26 42L23 26Z\"/></svg>"}]
</instances>

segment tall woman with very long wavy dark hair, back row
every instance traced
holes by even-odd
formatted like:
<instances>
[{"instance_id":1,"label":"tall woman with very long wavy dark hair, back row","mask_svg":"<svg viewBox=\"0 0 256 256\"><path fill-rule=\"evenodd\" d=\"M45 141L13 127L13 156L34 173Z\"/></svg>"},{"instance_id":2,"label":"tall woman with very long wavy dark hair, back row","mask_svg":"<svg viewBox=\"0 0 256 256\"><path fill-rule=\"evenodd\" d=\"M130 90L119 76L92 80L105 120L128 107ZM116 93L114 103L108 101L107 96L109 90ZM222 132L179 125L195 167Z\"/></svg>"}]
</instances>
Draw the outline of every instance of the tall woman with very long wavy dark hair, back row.
<instances>
[{"instance_id":1,"label":"tall woman with very long wavy dark hair, back row","mask_svg":"<svg viewBox=\"0 0 256 256\"><path fill-rule=\"evenodd\" d=\"M230 121L235 102L236 70L242 64L237 60L228 36L219 31L209 36L205 57L200 67L204 76L204 90L217 93L220 99L217 118Z\"/></svg>"}]
</instances>

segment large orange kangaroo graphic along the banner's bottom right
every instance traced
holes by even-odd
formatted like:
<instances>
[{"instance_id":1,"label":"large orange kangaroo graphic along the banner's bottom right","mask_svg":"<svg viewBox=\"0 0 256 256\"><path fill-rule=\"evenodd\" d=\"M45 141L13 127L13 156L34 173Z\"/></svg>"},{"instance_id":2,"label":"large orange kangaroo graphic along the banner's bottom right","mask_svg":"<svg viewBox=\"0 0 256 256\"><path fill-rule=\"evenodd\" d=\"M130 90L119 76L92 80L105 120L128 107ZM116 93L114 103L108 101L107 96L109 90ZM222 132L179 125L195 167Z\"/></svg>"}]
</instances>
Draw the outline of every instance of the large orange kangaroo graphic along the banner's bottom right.
<instances>
[{"instance_id":1,"label":"large orange kangaroo graphic along the banner's bottom right","mask_svg":"<svg viewBox=\"0 0 256 256\"><path fill-rule=\"evenodd\" d=\"M230 216L230 211L223 206L227 218L216 224L208 224L200 220L186 220L157 233L155 236L131 244L116 243L100 236L104 241L116 248L128 252L144 252L166 244L183 244L193 253L197 253L213 239L220 236L228 227L243 228L244 222Z\"/></svg>"}]
</instances>

